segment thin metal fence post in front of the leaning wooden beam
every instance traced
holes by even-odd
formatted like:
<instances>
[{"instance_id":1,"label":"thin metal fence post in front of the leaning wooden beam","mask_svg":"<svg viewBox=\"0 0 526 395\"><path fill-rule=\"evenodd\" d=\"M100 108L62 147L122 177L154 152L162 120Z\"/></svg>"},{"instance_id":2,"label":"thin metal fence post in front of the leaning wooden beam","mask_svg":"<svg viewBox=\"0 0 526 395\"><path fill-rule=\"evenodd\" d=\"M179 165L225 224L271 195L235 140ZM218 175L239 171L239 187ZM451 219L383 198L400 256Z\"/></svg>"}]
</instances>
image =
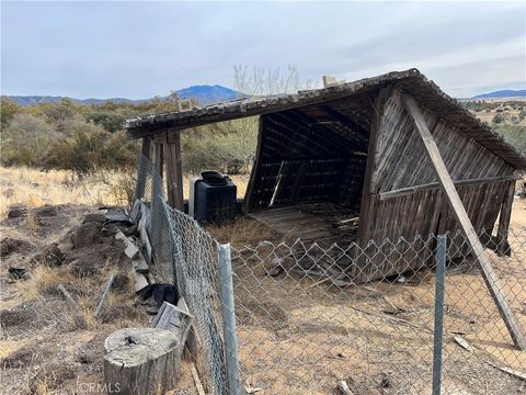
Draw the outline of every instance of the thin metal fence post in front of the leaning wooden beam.
<instances>
[{"instance_id":1,"label":"thin metal fence post in front of the leaning wooden beam","mask_svg":"<svg viewBox=\"0 0 526 395\"><path fill-rule=\"evenodd\" d=\"M447 236L438 235L435 270L435 327L433 339L433 395L441 394L442 347L444 329L444 289L446 278Z\"/></svg>"}]
</instances>

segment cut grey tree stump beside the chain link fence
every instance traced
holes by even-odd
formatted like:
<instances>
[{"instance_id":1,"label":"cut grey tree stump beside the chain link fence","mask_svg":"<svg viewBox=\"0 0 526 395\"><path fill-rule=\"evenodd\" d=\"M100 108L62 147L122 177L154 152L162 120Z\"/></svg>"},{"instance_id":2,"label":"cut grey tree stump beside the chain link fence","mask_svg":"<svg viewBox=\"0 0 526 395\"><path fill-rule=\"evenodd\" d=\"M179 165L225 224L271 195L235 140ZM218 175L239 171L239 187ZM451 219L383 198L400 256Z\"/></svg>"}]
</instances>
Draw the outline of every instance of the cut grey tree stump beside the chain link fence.
<instances>
[{"instance_id":1,"label":"cut grey tree stump beside the chain link fence","mask_svg":"<svg viewBox=\"0 0 526 395\"><path fill-rule=\"evenodd\" d=\"M158 328L125 328L110 335L104 348L107 391L119 394L164 394L181 372L176 337Z\"/></svg>"}]
</instances>

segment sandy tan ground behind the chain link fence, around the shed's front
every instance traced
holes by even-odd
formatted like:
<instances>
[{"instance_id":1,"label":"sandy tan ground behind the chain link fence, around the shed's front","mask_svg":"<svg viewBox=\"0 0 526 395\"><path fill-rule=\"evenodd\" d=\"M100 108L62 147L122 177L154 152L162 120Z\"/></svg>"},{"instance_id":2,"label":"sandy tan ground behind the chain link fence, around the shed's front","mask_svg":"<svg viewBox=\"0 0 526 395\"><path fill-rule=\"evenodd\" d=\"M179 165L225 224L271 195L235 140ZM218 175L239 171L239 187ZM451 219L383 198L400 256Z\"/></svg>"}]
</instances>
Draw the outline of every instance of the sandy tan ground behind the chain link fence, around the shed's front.
<instances>
[{"instance_id":1,"label":"sandy tan ground behind the chain link fence, around the shed's front","mask_svg":"<svg viewBox=\"0 0 526 395\"><path fill-rule=\"evenodd\" d=\"M490 252L508 302L526 328L526 202L516 200L513 255ZM242 379L261 394L330 394L345 380L353 394L431 393L434 271L405 280L341 289L300 274L290 263L268 275L289 250L250 219L210 229L237 248L235 295ZM262 235L274 245L243 248ZM260 238L261 240L261 238ZM242 259L241 259L242 258ZM297 262L297 261L296 261ZM526 383L498 370L526 372L472 260L455 261L446 278L443 393L522 394ZM470 351L455 342L460 336Z\"/></svg>"}]
</instances>

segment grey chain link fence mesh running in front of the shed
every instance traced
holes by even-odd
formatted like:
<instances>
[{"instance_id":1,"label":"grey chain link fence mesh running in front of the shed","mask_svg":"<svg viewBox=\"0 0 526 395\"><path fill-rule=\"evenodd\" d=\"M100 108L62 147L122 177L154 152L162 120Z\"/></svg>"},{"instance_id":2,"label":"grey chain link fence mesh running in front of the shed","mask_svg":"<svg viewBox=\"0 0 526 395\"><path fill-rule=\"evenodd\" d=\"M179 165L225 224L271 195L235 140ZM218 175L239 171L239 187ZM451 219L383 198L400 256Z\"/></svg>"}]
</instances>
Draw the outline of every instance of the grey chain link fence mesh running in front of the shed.
<instances>
[{"instance_id":1,"label":"grey chain link fence mesh running in front of the shed","mask_svg":"<svg viewBox=\"0 0 526 395\"><path fill-rule=\"evenodd\" d=\"M366 248L278 239L236 242L233 289L227 290L233 292L235 309L229 305L221 315L220 291L228 281L225 275L219 280L216 239L168 206L162 180L145 159L137 198L150 211L155 274L179 285L195 317L188 346L210 394L233 393L227 369L232 357L243 393L331 394L340 381L350 394L432 393L438 357L433 350L436 236ZM511 230L508 242L499 239L505 244L500 246L490 232L480 238L526 330L526 229ZM526 351L514 348L462 234L448 235L447 257L445 302L438 303L444 314L442 393L524 393ZM407 270L392 274L389 267L401 262ZM356 268L380 280L362 282ZM379 270L388 275L378 275ZM225 314L236 317L237 356L225 345L232 335L225 329Z\"/></svg>"}]
</instances>

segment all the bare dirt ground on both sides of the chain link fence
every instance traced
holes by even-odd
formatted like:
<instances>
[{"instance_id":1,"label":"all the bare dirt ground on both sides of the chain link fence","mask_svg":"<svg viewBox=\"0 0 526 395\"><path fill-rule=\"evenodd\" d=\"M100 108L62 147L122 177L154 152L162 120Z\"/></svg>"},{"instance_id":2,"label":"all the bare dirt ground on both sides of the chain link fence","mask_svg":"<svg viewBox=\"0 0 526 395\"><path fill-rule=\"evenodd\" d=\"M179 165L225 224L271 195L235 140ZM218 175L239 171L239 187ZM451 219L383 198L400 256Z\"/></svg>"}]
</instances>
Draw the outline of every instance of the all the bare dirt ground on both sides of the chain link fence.
<instances>
[{"instance_id":1,"label":"all the bare dirt ground on both sides of the chain link fence","mask_svg":"<svg viewBox=\"0 0 526 395\"><path fill-rule=\"evenodd\" d=\"M111 232L85 224L88 205L22 208L0 221L1 393L82 394L102 384L103 341L123 327L149 326L135 301L129 266ZM20 215L19 215L20 214ZM87 217L88 215L88 217ZM84 222L84 224L82 224ZM100 224L100 223L99 223ZM79 234L79 228L82 232ZM526 201L512 217L514 255L492 253L506 295L526 328ZM366 286L341 289L288 270L265 273L283 251L262 246L256 259L244 244L273 239L268 229L242 219L213 233L240 249L233 259L243 384L258 394L330 394L345 380L353 394L431 392L434 272L427 268ZM44 253L43 253L44 252ZM271 259L272 258L272 259ZM19 279L10 268L25 269ZM112 293L100 319L95 304L112 272ZM72 319L57 284L79 301L85 327ZM454 341L460 335L471 347ZM451 263L446 281L444 393L522 394L526 384L495 368L526 371L526 354L511 338L470 262ZM91 392L90 393L98 393ZM101 392L102 393L102 392ZM190 366L174 394L195 394Z\"/></svg>"}]
</instances>

